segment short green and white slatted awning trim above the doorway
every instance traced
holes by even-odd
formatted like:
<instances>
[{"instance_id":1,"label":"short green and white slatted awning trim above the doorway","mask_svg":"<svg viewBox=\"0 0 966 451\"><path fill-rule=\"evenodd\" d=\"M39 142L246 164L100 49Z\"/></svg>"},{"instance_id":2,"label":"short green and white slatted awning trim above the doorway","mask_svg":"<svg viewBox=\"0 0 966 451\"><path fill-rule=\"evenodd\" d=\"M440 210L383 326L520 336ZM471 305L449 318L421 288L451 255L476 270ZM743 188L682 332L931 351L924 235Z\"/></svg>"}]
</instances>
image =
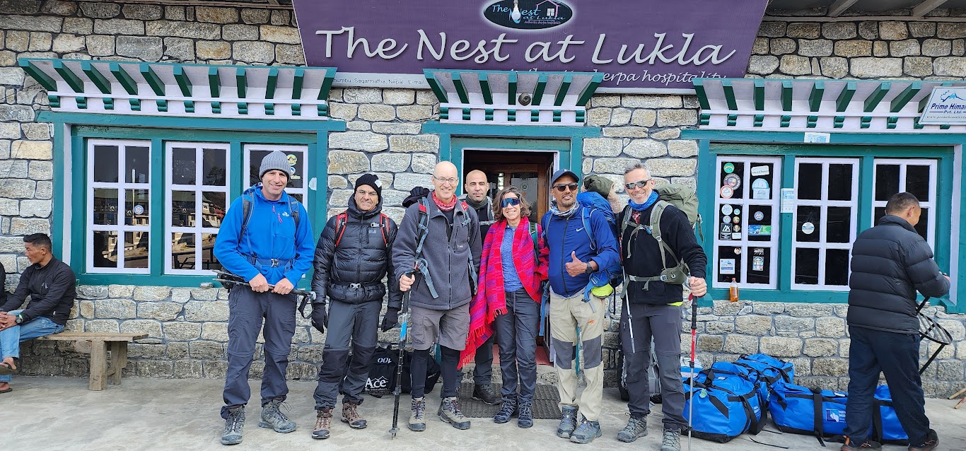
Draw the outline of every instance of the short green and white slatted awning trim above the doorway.
<instances>
[{"instance_id":1,"label":"short green and white slatted awning trim above the doorway","mask_svg":"<svg viewBox=\"0 0 966 451\"><path fill-rule=\"evenodd\" d=\"M440 123L582 126L599 72L423 70Z\"/></svg>"}]
</instances>

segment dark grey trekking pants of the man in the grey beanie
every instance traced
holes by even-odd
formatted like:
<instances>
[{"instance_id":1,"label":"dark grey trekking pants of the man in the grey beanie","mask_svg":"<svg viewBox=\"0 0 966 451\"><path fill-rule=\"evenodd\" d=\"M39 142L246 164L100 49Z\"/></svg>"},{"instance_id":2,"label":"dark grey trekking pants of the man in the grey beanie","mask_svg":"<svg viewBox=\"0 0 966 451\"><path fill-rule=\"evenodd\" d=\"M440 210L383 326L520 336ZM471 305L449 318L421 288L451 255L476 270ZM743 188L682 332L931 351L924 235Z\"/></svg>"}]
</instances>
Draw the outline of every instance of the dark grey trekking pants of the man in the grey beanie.
<instances>
[{"instance_id":1,"label":"dark grey trekking pants of the man in the grey beanie","mask_svg":"<svg viewBox=\"0 0 966 451\"><path fill-rule=\"evenodd\" d=\"M255 357L255 341L259 331L265 337L262 405L271 399L284 399L288 395L285 369L289 366L292 336L296 333L296 303L296 295L255 293L244 286L229 293L228 370L222 395L225 400L221 408L222 418L228 418L229 407L245 405L251 396L248 370Z\"/></svg>"}]
</instances>

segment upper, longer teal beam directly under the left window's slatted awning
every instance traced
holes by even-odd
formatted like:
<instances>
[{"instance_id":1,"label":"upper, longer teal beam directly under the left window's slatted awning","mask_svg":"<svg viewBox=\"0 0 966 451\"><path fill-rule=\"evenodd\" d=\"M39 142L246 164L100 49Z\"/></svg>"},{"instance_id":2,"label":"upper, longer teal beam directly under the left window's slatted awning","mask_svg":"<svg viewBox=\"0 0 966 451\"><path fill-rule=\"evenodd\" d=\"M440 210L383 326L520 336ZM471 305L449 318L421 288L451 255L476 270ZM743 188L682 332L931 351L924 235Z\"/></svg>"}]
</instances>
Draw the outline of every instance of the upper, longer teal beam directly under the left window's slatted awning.
<instances>
[{"instance_id":1,"label":"upper, longer teal beam directly under the left window's slatted awning","mask_svg":"<svg viewBox=\"0 0 966 451\"><path fill-rule=\"evenodd\" d=\"M234 119L234 118L176 118L168 116L133 116L120 114L84 114L41 111L37 122L63 122L81 126L110 127L161 127L161 128L208 128L216 130L264 130L316 132L345 131L343 121L298 121L283 119Z\"/></svg>"}]
</instances>

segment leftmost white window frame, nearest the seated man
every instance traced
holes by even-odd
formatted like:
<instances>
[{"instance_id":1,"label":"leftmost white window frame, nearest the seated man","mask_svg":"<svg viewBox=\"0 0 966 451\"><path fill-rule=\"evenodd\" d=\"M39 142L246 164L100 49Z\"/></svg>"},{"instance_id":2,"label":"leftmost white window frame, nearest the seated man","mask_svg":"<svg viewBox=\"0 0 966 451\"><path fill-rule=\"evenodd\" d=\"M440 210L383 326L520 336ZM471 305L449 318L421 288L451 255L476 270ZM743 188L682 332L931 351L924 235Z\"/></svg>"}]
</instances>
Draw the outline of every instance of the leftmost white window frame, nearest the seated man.
<instances>
[{"instance_id":1,"label":"leftmost white window frame, nearest the seated man","mask_svg":"<svg viewBox=\"0 0 966 451\"><path fill-rule=\"evenodd\" d=\"M108 183L108 182L94 182L94 148L96 146L115 146L118 148L118 182ZM148 198L151 199L151 182L155 174L152 174L151 168L148 168L148 182L147 183L126 183L125 174L127 173L127 158L125 157L128 147L145 147L148 149L148 157L152 158L151 155L154 149L152 149L151 141L145 140L125 140L125 139L89 139L87 140L87 230L85 231L84 240L87 242L87 248L90 249L87 252L86 257L86 272L96 273L96 274L150 274L151 273L151 252L156 252L156 249L151 249L150 242L148 247L148 266L147 268L127 268L125 266L125 234L127 232L151 232L151 217L152 210L148 211L149 224L148 225L127 225L125 224L125 219L127 212L125 209L125 204L127 200L126 191L128 190L147 190ZM118 221L117 225L105 225L105 224L95 224L94 223L94 190L99 188L105 189L116 189L118 192ZM158 206L149 204L149 209L156 209ZM118 267L117 268L96 268L94 266L94 232L116 232L118 234L118 242L116 246L121 246L118 250ZM150 237L150 235L149 235Z\"/></svg>"}]
</instances>

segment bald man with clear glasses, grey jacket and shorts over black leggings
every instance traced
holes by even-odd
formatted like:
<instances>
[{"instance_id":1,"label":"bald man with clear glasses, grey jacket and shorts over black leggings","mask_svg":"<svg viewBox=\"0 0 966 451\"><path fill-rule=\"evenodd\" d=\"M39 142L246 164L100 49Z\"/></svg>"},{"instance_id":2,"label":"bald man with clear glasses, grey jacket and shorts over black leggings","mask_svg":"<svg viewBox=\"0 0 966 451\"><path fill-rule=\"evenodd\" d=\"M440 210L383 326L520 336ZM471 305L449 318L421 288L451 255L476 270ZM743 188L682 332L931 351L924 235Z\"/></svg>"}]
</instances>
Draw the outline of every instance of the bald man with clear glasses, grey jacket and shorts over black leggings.
<instances>
[{"instance_id":1,"label":"bald man with clear glasses, grey jacket and shorts over black leggings","mask_svg":"<svg viewBox=\"0 0 966 451\"><path fill-rule=\"evenodd\" d=\"M456 166L440 161L433 170L434 190L406 209L392 248L399 289L412 290L411 431L425 431L426 364L429 349L440 344L442 404L437 413L457 429L469 419L456 398L460 352L467 346L469 300L475 291L482 240L476 212L456 198ZM425 228L425 229L424 229ZM425 232L423 232L425 230ZM418 271L416 278L412 271Z\"/></svg>"}]
</instances>

